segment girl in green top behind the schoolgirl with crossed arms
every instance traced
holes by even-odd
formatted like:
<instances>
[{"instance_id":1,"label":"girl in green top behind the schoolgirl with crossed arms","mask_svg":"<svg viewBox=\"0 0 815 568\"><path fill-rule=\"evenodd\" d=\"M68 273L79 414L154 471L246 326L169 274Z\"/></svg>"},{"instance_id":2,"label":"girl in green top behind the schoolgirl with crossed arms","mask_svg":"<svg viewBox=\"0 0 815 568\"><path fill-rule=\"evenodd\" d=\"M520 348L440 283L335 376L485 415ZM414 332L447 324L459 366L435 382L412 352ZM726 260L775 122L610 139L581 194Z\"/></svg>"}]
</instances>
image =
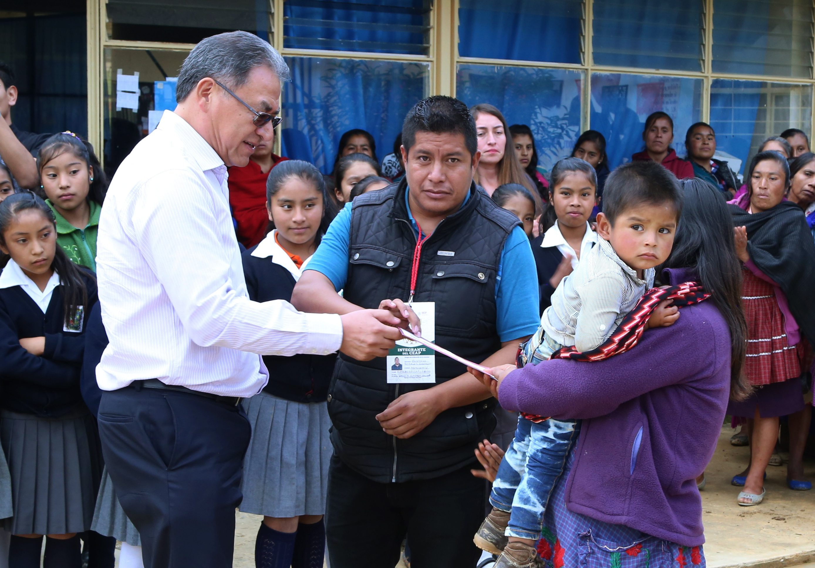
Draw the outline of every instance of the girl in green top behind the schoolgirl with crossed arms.
<instances>
[{"instance_id":1,"label":"girl in green top behind the schoolgirl with crossed arms","mask_svg":"<svg viewBox=\"0 0 815 568\"><path fill-rule=\"evenodd\" d=\"M40 187L56 218L57 244L96 271L96 233L108 179L93 146L73 132L54 134L37 154Z\"/></svg>"}]
</instances>

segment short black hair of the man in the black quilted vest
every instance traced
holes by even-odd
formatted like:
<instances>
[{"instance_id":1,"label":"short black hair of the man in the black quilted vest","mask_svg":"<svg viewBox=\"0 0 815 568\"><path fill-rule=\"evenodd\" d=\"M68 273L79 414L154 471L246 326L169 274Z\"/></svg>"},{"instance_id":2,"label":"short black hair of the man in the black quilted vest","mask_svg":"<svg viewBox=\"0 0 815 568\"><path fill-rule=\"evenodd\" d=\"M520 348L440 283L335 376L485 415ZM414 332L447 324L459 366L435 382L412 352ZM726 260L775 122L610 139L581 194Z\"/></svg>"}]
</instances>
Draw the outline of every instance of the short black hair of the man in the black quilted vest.
<instances>
[{"instance_id":1,"label":"short black hair of the man in the black quilted vest","mask_svg":"<svg viewBox=\"0 0 815 568\"><path fill-rule=\"evenodd\" d=\"M402 125L402 145L406 154L416 143L417 132L461 134L470 156L475 156L475 152L478 152L475 119L469 113L467 105L459 99L434 95L420 100L407 111Z\"/></svg>"}]
</instances>

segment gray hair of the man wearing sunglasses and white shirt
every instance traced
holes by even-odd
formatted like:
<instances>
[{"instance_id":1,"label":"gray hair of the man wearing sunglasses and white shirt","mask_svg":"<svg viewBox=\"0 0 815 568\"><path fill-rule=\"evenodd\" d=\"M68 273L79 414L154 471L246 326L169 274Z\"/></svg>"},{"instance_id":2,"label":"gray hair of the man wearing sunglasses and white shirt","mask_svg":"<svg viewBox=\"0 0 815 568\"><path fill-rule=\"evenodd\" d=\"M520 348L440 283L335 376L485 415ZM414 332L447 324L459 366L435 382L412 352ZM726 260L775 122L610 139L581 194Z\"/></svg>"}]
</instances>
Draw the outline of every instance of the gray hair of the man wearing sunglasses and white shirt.
<instances>
[{"instance_id":1,"label":"gray hair of the man wearing sunglasses and white shirt","mask_svg":"<svg viewBox=\"0 0 815 568\"><path fill-rule=\"evenodd\" d=\"M269 42L249 32L206 37L192 48L178 72L175 99L187 98L198 81L212 77L231 89L245 85L253 68L267 66L280 82L289 81L289 66Z\"/></svg>"}]
</instances>

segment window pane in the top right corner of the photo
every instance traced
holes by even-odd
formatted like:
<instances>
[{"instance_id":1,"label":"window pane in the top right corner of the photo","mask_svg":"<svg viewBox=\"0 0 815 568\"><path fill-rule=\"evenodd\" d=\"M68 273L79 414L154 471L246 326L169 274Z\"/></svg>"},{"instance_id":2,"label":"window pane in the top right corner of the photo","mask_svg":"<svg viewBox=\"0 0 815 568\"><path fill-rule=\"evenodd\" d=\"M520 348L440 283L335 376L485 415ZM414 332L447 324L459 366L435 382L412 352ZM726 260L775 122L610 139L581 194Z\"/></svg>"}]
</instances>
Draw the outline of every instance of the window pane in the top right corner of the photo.
<instances>
[{"instance_id":1,"label":"window pane in the top right corner of the photo","mask_svg":"<svg viewBox=\"0 0 815 568\"><path fill-rule=\"evenodd\" d=\"M811 77L811 0L716 0L713 73Z\"/></svg>"}]
</instances>

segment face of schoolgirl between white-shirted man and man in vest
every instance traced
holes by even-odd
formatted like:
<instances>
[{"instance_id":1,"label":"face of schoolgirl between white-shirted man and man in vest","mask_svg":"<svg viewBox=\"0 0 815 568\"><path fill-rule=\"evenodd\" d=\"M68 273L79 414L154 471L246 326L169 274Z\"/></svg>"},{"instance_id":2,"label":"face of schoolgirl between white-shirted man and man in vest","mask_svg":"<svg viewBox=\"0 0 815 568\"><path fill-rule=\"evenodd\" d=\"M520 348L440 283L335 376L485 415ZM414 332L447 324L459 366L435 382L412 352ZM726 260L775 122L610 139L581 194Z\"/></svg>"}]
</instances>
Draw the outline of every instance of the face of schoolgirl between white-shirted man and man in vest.
<instances>
[{"instance_id":1,"label":"face of schoolgirl between white-shirted man and man in vest","mask_svg":"<svg viewBox=\"0 0 815 568\"><path fill-rule=\"evenodd\" d=\"M271 196L267 209L279 238L293 244L311 243L323 219L323 196L314 184L293 176Z\"/></svg>"}]
</instances>

